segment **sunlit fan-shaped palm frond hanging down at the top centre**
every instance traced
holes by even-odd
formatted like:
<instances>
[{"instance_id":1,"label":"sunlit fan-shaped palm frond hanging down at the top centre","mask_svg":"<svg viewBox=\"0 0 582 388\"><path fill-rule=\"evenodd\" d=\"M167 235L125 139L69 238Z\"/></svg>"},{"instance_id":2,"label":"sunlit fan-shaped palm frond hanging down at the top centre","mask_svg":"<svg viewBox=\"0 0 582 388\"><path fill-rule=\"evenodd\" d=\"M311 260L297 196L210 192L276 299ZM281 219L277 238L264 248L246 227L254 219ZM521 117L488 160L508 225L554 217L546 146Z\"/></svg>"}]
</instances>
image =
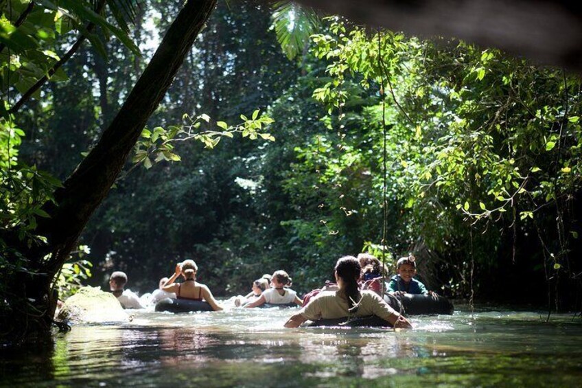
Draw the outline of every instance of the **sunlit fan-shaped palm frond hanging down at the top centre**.
<instances>
[{"instance_id":1,"label":"sunlit fan-shaped palm frond hanging down at the top centre","mask_svg":"<svg viewBox=\"0 0 582 388\"><path fill-rule=\"evenodd\" d=\"M277 1L272 5L272 28L287 58L293 59L303 51L319 24L314 10L293 3Z\"/></svg>"}]
</instances>

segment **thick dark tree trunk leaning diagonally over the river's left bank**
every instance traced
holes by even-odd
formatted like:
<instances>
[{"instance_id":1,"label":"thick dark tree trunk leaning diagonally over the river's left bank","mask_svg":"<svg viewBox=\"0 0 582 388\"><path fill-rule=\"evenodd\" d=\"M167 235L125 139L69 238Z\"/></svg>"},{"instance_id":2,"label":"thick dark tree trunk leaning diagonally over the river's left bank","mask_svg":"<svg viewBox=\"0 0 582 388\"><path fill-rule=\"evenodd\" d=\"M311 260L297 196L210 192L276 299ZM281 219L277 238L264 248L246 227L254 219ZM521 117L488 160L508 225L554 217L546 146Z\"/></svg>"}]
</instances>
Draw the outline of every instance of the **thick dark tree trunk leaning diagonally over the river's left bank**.
<instances>
[{"instance_id":1,"label":"thick dark tree trunk leaning diagonally over the river's left bank","mask_svg":"<svg viewBox=\"0 0 582 388\"><path fill-rule=\"evenodd\" d=\"M45 207L51 218L39 223L37 233L47 237L47 244L29 255L32 266L43 275L20 279L23 295L36 301L45 324L54 313L55 301L49 295L51 279L124 167L146 121L172 84L215 5L216 0L187 0L113 122L55 193L57 205Z\"/></svg>"}]
</instances>

